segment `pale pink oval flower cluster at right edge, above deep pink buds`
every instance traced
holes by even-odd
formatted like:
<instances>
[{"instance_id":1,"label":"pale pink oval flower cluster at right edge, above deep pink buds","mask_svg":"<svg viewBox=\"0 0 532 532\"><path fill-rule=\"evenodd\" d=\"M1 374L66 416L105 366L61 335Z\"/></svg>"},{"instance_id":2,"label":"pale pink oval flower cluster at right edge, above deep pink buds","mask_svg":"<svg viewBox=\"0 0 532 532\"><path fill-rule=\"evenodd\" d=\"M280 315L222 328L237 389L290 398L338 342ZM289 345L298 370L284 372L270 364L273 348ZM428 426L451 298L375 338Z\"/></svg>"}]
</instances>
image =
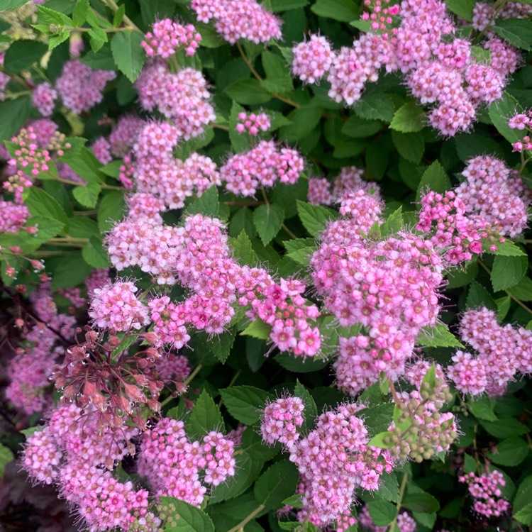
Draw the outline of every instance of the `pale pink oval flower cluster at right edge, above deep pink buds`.
<instances>
[{"instance_id":1,"label":"pale pink oval flower cluster at right edge, above deep pink buds","mask_svg":"<svg viewBox=\"0 0 532 532\"><path fill-rule=\"evenodd\" d=\"M480 155L467 161L466 180L455 189L467 216L479 216L501 235L519 235L528 223L530 192L503 161Z\"/></svg>"}]
</instances>

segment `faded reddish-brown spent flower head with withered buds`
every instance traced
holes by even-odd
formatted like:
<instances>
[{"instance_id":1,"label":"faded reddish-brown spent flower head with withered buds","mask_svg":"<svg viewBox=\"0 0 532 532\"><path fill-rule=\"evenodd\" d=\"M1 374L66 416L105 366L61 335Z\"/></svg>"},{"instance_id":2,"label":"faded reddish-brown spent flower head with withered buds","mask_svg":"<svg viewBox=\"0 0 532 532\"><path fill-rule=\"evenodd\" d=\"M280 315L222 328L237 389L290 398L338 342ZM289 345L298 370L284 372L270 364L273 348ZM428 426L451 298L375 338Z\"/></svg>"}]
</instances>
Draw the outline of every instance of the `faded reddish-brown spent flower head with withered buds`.
<instances>
[{"instance_id":1,"label":"faded reddish-brown spent flower head with withered buds","mask_svg":"<svg viewBox=\"0 0 532 532\"><path fill-rule=\"evenodd\" d=\"M81 332L80 328L76 331ZM77 340L77 345L66 350L65 363L53 377L55 386L65 402L75 401L82 408L94 405L99 411L99 426L119 428L127 414L143 430L143 405L155 413L160 411L158 398L164 383L153 363L160 353L150 346L128 354L119 348L118 336L109 333L104 341L105 334L85 326L85 341Z\"/></svg>"}]
</instances>

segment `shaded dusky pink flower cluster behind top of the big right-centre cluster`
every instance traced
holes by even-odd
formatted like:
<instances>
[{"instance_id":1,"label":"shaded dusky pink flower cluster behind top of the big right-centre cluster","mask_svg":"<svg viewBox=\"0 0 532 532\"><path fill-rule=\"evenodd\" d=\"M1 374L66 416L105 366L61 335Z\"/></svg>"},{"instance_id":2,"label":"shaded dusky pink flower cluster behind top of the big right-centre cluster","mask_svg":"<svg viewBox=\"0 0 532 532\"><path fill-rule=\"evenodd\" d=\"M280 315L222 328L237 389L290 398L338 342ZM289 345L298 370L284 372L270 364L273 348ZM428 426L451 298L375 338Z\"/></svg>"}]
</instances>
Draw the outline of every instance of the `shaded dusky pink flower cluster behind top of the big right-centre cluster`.
<instances>
[{"instance_id":1,"label":"shaded dusky pink flower cluster behind top of the big right-centre cluster","mask_svg":"<svg viewBox=\"0 0 532 532\"><path fill-rule=\"evenodd\" d=\"M366 192L374 192L380 197L380 187L377 183L362 179L364 170L355 166L343 167L340 173L331 183L325 177L309 178L309 192L306 201L314 205L331 205L340 202L345 192L353 192L359 189Z\"/></svg>"}]
</instances>

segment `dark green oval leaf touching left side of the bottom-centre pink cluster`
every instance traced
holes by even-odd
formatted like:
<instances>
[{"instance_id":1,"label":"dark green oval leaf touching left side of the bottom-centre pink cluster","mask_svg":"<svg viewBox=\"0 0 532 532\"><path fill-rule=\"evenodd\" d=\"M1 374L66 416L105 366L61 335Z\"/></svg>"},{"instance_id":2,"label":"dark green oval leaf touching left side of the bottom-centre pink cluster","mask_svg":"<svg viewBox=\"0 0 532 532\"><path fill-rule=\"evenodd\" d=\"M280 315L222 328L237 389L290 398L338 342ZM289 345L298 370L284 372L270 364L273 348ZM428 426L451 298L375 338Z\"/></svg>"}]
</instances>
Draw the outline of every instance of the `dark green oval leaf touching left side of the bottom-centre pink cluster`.
<instances>
[{"instance_id":1,"label":"dark green oval leaf touching left side of the bottom-centre pink cluster","mask_svg":"<svg viewBox=\"0 0 532 532\"><path fill-rule=\"evenodd\" d=\"M276 462L262 473L255 483L255 499L267 508L279 509L282 501L296 491L298 480L299 473L292 462Z\"/></svg>"}]
</instances>

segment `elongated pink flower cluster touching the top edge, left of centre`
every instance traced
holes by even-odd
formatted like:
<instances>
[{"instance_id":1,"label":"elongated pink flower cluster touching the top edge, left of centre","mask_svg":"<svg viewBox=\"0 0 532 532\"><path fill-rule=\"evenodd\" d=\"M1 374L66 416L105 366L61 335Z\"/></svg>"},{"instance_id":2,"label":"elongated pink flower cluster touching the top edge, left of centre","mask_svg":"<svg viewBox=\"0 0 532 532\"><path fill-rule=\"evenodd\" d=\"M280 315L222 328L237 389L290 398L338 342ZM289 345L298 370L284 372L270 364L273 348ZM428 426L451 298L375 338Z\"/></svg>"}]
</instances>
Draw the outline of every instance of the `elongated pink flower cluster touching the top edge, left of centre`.
<instances>
[{"instance_id":1,"label":"elongated pink flower cluster touching the top edge, left of centre","mask_svg":"<svg viewBox=\"0 0 532 532\"><path fill-rule=\"evenodd\" d=\"M214 28L231 44L239 39L255 44L282 38L281 21L255 0L192 0L201 22L215 19Z\"/></svg>"}]
</instances>

